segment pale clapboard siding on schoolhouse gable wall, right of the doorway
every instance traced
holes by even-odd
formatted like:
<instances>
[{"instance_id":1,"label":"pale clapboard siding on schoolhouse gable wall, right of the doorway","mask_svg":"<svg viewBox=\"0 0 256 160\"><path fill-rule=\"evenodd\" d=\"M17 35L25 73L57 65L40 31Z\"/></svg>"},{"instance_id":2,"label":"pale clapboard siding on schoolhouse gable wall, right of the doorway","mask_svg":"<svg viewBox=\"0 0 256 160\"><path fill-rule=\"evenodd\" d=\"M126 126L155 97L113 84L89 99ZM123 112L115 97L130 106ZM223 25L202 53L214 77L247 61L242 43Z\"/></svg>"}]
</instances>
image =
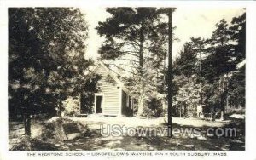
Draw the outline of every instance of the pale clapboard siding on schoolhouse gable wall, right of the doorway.
<instances>
[{"instance_id":1,"label":"pale clapboard siding on schoolhouse gable wall, right of the doorway","mask_svg":"<svg viewBox=\"0 0 256 160\"><path fill-rule=\"evenodd\" d=\"M117 115L121 107L120 92L118 83L108 75L108 71L103 66L98 66L96 72L101 76L98 82L99 93L103 94L103 114Z\"/></svg>"}]
</instances>

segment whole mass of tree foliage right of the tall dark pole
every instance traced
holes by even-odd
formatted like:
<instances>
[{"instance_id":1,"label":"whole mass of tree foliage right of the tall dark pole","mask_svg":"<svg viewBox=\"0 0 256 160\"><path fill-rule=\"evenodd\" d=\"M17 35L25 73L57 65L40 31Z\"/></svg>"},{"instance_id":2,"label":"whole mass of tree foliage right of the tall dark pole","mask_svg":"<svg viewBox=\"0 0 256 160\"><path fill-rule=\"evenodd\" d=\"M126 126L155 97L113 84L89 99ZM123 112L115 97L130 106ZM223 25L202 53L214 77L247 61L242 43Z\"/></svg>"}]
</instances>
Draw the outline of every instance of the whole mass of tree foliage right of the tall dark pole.
<instances>
[{"instance_id":1,"label":"whole mass of tree foliage right of the tall dark pole","mask_svg":"<svg viewBox=\"0 0 256 160\"><path fill-rule=\"evenodd\" d=\"M244 62L245 14L230 24L220 20L209 39L191 37L174 61L176 111L188 116L188 106L194 114L199 105L204 112L245 106Z\"/></svg>"}]
</instances>

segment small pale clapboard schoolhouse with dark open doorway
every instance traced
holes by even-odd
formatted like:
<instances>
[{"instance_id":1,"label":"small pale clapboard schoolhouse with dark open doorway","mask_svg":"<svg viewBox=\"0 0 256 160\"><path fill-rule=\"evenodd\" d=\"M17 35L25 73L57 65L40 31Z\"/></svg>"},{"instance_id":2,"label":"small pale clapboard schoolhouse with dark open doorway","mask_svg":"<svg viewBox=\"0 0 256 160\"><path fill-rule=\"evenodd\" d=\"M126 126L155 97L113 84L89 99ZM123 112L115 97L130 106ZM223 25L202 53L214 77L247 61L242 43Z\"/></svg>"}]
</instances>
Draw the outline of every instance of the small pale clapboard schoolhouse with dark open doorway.
<instances>
[{"instance_id":1,"label":"small pale clapboard schoolhouse with dark open doorway","mask_svg":"<svg viewBox=\"0 0 256 160\"><path fill-rule=\"evenodd\" d=\"M134 96L118 75L101 61L94 71L101 76L97 84L99 91L95 94L94 112L109 116L133 116Z\"/></svg>"}]
</instances>

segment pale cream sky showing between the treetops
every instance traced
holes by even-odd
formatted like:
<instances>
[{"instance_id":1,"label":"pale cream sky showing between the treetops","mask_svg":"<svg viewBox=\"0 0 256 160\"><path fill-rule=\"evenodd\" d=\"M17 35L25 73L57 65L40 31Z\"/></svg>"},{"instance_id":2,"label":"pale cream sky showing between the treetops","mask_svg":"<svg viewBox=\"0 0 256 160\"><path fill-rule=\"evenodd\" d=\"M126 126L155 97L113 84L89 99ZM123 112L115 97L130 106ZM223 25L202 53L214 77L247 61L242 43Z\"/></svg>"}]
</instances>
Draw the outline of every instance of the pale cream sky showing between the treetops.
<instances>
[{"instance_id":1,"label":"pale cream sky showing between the treetops","mask_svg":"<svg viewBox=\"0 0 256 160\"><path fill-rule=\"evenodd\" d=\"M110 14L100 7L80 10L85 14L85 19L89 25L85 57L96 60L99 56L97 50L104 38L97 34L95 28L99 21L106 20ZM179 40L173 42L173 57L176 57L179 51L183 49L183 43L188 42L190 37L211 37L218 21L224 19L230 23L233 17L239 16L243 12L244 9L241 8L177 8L173 13L173 26L177 26L174 34Z\"/></svg>"}]
</instances>

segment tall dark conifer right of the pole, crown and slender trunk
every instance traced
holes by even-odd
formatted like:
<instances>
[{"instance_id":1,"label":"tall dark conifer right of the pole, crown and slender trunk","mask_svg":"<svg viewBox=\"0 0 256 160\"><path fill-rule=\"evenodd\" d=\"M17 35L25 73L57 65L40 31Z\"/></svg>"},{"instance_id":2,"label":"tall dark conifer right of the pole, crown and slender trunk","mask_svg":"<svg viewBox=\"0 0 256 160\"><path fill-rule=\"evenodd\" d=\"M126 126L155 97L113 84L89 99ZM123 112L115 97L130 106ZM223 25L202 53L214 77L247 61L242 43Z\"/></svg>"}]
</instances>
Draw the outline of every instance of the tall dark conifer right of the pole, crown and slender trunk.
<instances>
[{"instance_id":1,"label":"tall dark conifer right of the pole, crown and slender trunk","mask_svg":"<svg viewBox=\"0 0 256 160\"><path fill-rule=\"evenodd\" d=\"M230 46L230 29L225 20L220 20L216 24L216 30L213 31L211 39L208 40L209 55L203 61L204 73L209 83L219 83L216 92L219 95L221 110L221 119L224 119L225 101L228 97L227 83L230 72L236 70L236 59L232 54Z\"/></svg>"}]
</instances>

